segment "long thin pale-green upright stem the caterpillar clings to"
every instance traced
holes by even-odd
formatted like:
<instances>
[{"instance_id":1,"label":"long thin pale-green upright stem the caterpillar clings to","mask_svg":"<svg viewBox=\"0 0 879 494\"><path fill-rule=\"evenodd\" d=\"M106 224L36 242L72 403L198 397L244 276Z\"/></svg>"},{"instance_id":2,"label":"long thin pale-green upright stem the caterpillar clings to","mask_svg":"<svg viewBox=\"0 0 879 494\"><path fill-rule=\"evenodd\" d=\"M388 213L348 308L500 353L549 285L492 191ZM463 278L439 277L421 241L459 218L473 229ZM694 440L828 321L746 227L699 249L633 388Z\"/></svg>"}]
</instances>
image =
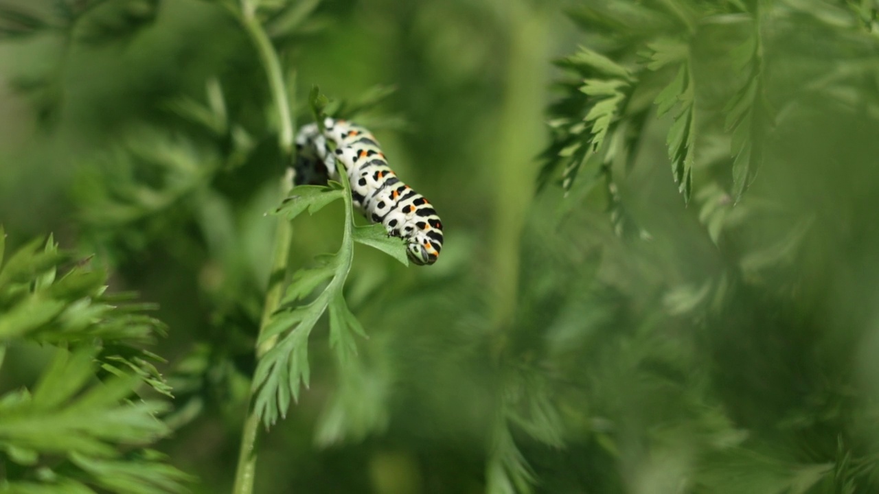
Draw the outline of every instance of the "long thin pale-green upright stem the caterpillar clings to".
<instances>
[{"instance_id":1,"label":"long thin pale-green upright stem the caterpillar clings to","mask_svg":"<svg viewBox=\"0 0 879 494\"><path fill-rule=\"evenodd\" d=\"M259 53L259 59L262 61L265 69L265 76L269 82L269 90L272 93L272 103L278 113L278 122L280 125L278 135L278 145L281 155L285 159L293 155L294 149L294 121L290 112L290 101L287 98L287 84L285 84L284 73L281 70L278 53L272 47L272 41L269 40L263 26L259 24L256 18L253 5L247 0L241 3L241 11L236 12L245 31L250 35L254 46ZM282 192L286 195L293 186L293 180L290 175L284 178ZM287 260L290 256L290 242L293 238L293 228L286 218L278 219L278 226L275 230L274 241L274 258L272 259L272 274L269 279L269 286L265 294L265 306L263 307L262 320L259 323L259 333L265 331L265 326L271 319L272 313L278 309L281 295L284 291L285 278L287 273ZM258 340L261 338L258 338ZM277 338L269 338L256 349L257 360L262 358L266 352L272 349L277 343ZM251 388L250 396L248 396L248 412L247 418L244 420L244 426L241 433L241 449L238 453L238 466L235 475L235 485L233 486L233 494L251 494L253 492L253 483L256 477L257 469L257 441L259 432L259 417L253 408L253 393L255 389Z\"/></svg>"}]
</instances>

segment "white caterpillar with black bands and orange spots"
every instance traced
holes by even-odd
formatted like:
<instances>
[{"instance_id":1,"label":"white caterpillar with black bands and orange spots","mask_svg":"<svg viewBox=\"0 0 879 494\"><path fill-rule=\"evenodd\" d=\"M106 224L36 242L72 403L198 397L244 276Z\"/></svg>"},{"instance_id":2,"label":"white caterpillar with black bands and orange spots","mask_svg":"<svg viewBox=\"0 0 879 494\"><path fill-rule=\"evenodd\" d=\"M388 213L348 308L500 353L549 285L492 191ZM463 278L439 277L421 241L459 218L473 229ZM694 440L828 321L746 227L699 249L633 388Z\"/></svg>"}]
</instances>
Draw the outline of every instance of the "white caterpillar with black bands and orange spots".
<instances>
[{"instance_id":1,"label":"white caterpillar with black bands and orange spots","mask_svg":"<svg viewBox=\"0 0 879 494\"><path fill-rule=\"evenodd\" d=\"M379 143L366 128L346 120L323 120L301 127L296 135L297 184L325 184L338 179L336 160L345 165L354 207L367 220L381 223L389 236L406 241L416 265L432 265L442 250L442 222L425 197L404 184L388 166ZM331 152L327 140L336 144Z\"/></svg>"}]
</instances>

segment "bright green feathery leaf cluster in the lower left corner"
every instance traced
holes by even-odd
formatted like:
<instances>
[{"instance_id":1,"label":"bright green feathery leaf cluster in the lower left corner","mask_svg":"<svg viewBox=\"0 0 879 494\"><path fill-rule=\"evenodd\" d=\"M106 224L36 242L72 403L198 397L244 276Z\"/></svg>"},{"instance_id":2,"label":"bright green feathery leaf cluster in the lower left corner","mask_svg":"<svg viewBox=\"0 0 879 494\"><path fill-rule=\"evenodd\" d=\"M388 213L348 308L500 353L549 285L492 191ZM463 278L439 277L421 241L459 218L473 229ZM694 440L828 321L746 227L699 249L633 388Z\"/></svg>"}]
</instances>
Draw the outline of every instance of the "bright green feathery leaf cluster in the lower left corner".
<instances>
[{"instance_id":1,"label":"bright green feathery leaf cluster in the lower left corner","mask_svg":"<svg viewBox=\"0 0 879 494\"><path fill-rule=\"evenodd\" d=\"M0 261L4 237L0 230ZM105 294L106 274L89 259L76 262L51 237L40 244L12 252L0 269L2 355L54 349L33 386L0 396L0 489L183 492L189 476L146 448L171 432L159 417L169 403L136 394L145 383L171 398L153 363L162 359L142 349L163 323L130 296Z\"/></svg>"}]
</instances>

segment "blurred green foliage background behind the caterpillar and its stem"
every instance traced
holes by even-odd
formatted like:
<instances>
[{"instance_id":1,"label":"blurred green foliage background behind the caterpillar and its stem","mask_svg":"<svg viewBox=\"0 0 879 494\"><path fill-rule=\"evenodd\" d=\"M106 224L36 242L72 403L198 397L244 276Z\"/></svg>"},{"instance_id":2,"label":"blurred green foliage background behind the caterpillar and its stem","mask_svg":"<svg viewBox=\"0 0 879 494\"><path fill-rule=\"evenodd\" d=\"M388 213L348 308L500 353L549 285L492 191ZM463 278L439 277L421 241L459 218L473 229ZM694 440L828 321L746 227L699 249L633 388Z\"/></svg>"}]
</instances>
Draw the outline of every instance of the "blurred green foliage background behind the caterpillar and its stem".
<instances>
[{"instance_id":1,"label":"blurred green foliage background behind the caterpillar and its stem","mask_svg":"<svg viewBox=\"0 0 879 494\"><path fill-rule=\"evenodd\" d=\"M7 245L53 232L159 304L175 433L157 447L194 492L229 492L284 171L257 52L222 2L3 4L50 19L0 44ZM345 298L369 338L341 368L318 324L257 492L879 491L875 3L264 4L297 123L314 84L396 88L360 121L446 243L425 268L358 247ZM734 205L723 107L742 73L723 61L758 9L774 125L749 137L763 163ZM686 31L676 15L697 19L694 193L672 179L671 119L650 113L630 167L613 164L617 235L599 164L537 190L567 77L551 62L585 45L638 63ZM211 91L214 128L185 111ZM294 222L294 265L337 249L341 214ZM40 359L11 353L5 387Z\"/></svg>"}]
</instances>

